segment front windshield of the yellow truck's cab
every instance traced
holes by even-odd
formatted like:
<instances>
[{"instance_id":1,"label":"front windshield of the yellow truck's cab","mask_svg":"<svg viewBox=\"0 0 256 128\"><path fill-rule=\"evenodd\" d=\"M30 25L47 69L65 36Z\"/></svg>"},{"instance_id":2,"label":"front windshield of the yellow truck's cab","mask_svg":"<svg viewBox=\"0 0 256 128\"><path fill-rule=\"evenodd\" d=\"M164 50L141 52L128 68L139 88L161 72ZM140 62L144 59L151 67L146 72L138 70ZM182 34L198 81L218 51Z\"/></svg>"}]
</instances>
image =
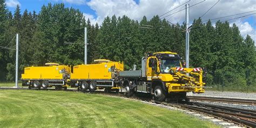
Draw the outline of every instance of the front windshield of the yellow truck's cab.
<instances>
[{"instance_id":1,"label":"front windshield of the yellow truck's cab","mask_svg":"<svg viewBox=\"0 0 256 128\"><path fill-rule=\"evenodd\" d=\"M168 73L169 69L180 67L179 59L161 59L160 71L161 73Z\"/></svg>"}]
</instances>

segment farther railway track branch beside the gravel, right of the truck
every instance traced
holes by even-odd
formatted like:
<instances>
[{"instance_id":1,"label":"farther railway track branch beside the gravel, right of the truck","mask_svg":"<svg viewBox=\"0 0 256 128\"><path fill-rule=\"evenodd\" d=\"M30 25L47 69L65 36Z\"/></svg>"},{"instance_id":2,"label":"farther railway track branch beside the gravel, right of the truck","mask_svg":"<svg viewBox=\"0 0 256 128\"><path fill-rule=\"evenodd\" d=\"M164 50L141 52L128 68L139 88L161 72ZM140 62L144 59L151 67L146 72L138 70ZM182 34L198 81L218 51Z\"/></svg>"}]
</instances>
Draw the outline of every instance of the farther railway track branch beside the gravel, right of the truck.
<instances>
[{"instance_id":1,"label":"farther railway track branch beside the gravel, right of the truck","mask_svg":"<svg viewBox=\"0 0 256 128\"><path fill-rule=\"evenodd\" d=\"M207 102L224 102L224 103L233 103L233 104L248 104L256 105L256 100L252 99L234 99L234 98L219 98L219 97L195 97L187 96L190 100L199 100Z\"/></svg>"}]
</instances>

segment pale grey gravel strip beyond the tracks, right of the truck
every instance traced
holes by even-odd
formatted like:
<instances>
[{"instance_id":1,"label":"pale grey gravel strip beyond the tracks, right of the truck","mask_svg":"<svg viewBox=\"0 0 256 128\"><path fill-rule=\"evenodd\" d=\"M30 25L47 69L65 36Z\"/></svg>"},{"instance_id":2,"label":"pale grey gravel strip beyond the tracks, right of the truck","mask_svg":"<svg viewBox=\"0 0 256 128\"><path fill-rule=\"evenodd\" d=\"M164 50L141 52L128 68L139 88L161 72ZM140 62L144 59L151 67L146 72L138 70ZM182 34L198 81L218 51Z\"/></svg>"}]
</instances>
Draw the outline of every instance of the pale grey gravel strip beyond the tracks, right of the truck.
<instances>
[{"instance_id":1,"label":"pale grey gravel strip beyond the tracks, right of the truck","mask_svg":"<svg viewBox=\"0 0 256 128\"><path fill-rule=\"evenodd\" d=\"M256 100L256 93L244 92L219 92L219 91L205 91L205 93L194 94L192 96L219 96L219 97L235 97L235 98L250 98Z\"/></svg>"}]
</instances>

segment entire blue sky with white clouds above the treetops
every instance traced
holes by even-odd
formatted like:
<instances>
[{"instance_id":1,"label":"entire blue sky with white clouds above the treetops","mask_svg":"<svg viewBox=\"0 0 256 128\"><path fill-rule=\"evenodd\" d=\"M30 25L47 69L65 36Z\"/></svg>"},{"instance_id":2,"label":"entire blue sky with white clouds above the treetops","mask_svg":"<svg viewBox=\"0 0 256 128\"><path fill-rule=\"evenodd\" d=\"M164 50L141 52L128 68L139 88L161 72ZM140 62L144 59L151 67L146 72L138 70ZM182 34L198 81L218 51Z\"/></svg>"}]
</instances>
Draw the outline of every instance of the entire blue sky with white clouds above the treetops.
<instances>
[{"instance_id":1,"label":"entire blue sky with white clouds above the treetops","mask_svg":"<svg viewBox=\"0 0 256 128\"><path fill-rule=\"evenodd\" d=\"M66 7L72 7L82 11L85 18L89 18L93 24L102 24L106 16L112 17L112 15L127 15L138 21L140 21L143 16L146 16L147 19L151 19L154 15L161 16L165 14L165 12L186 2L191 6L190 23L193 22L193 19L202 17L203 14L217 2L218 3L202 17L203 21L248 12L246 14L215 19L212 20L212 23L218 20L225 21L232 19L228 22L237 24L243 37L248 34L256 41L256 0L5 0L6 6L12 12L15 11L17 4L19 4L22 12L28 9L28 11L35 10L37 14L43 5L47 5L48 3L64 3ZM172 10L169 14L173 14L184 8L185 4ZM245 15L250 16L242 17ZM172 23L183 23L185 21L185 10L168 16L166 19Z\"/></svg>"}]
</instances>

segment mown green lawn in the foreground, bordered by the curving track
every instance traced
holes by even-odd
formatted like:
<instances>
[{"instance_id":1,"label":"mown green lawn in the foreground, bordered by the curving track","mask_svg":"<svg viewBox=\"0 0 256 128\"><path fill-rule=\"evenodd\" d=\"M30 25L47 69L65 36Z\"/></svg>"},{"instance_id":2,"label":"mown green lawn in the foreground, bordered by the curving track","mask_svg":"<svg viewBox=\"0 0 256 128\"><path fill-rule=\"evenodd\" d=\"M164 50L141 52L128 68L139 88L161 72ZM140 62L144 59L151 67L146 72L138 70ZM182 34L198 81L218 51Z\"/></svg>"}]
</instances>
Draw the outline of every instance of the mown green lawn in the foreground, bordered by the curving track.
<instances>
[{"instance_id":1,"label":"mown green lawn in the foreground, bordered by the curving track","mask_svg":"<svg viewBox=\"0 0 256 128\"><path fill-rule=\"evenodd\" d=\"M0 127L218 127L179 111L103 95L0 90Z\"/></svg>"}]
</instances>

